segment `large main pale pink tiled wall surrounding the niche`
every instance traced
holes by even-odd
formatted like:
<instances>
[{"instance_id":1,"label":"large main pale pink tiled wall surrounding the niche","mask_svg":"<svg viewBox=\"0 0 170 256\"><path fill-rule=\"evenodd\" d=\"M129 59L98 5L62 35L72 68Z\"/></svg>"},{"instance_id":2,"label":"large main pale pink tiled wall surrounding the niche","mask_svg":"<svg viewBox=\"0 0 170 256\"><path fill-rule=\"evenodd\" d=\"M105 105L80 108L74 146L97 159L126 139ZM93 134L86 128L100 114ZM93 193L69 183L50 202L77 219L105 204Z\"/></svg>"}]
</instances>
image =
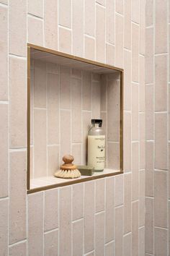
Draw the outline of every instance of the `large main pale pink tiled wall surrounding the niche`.
<instances>
[{"instance_id":1,"label":"large main pale pink tiled wall surrounding the niche","mask_svg":"<svg viewBox=\"0 0 170 256\"><path fill-rule=\"evenodd\" d=\"M2 255L145 255L145 9L144 0L0 0ZM26 195L27 41L125 69L125 174Z\"/></svg>"}]
</instances>

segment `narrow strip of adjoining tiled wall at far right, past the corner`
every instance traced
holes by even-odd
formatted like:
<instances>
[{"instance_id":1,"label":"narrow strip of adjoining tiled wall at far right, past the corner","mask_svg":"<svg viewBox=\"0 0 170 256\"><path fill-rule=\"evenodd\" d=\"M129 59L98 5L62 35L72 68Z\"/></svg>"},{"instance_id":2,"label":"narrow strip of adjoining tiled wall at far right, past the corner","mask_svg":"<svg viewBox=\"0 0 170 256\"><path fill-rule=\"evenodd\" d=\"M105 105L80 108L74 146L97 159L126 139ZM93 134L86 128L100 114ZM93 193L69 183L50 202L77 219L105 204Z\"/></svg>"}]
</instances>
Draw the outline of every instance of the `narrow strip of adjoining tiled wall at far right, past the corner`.
<instances>
[{"instance_id":1,"label":"narrow strip of adjoining tiled wall at far right, past the corner","mask_svg":"<svg viewBox=\"0 0 170 256\"><path fill-rule=\"evenodd\" d=\"M146 1L146 255L169 255L170 3Z\"/></svg>"}]
</instances>

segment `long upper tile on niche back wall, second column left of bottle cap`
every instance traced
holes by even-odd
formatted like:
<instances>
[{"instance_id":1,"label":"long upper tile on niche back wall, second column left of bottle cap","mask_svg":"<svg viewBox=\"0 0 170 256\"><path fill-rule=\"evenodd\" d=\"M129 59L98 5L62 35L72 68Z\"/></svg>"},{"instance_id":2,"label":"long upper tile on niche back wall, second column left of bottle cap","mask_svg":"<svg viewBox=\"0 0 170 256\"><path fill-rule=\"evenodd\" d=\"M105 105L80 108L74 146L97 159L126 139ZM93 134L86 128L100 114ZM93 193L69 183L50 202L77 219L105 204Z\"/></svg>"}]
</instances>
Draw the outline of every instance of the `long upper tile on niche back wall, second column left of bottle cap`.
<instances>
[{"instance_id":1,"label":"long upper tile on niche back wall, second column left of bottle cap","mask_svg":"<svg viewBox=\"0 0 170 256\"><path fill-rule=\"evenodd\" d=\"M72 142L81 142L81 80L72 78ZM76 125L77 124L77 125Z\"/></svg>"}]
</instances>

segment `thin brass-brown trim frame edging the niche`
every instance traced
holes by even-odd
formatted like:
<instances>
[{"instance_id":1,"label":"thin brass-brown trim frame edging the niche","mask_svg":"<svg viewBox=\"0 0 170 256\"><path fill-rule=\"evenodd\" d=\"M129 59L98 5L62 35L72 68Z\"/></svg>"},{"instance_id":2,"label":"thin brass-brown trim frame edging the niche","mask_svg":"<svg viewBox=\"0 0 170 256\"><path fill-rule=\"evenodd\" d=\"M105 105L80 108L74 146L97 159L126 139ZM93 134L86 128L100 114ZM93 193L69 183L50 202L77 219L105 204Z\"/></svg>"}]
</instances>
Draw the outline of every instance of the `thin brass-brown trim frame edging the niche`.
<instances>
[{"instance_id":1,"label":"thin brass-brown trim frame edging the niche","mask_svg":"<svg viewBox=\"0 0 170 256\"><path fill-rule=\"evenodd\" d=\"M96 67L99 70L101 69L109 69L111 72L117 71L120 72L120 170L114 171L109 174L99 174L95 176L86 176L82 179L73 179L73 181L51 184L44 187L30 188L30 66L31 66L31 50L42 51L42 54L53 54L54 56L61 56L70 61L77 62L80 65L86 64L89 67ZM81 68L83 69L83 67ZM76 184L80 182L86 182L94 179L104 178L106 176L115 176L117 174L123 173L123 77L124 70L119 67L113 67L107 64L103 64L97 61L91 61L89 59L80 58L78 56L73 56L70 54L65 54L60 51L54 51L50 48L44 48L41 46L35 46L33 44L27 44L27 194L38 192L46 189L53 189L55 187L63 187L66 185Z\"/></svg>"}]
</instances>

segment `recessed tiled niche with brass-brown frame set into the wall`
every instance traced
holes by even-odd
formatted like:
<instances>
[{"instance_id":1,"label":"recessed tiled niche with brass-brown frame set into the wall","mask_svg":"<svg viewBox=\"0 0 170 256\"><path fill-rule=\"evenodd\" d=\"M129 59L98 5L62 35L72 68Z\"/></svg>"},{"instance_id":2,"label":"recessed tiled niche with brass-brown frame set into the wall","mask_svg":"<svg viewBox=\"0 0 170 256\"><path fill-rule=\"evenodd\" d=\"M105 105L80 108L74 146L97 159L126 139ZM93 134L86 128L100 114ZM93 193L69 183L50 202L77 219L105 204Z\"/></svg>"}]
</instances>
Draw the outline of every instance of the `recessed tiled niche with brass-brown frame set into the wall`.
<instances>
[{"instance_id":1,"label":"recessed tiled niche with brass-brown frame set into the wall","mask_svg":"<svg viewBox=\"0 0 170 256\"><path fill-rule=\"evenodd\" d=\"M28 45L27 189L35 192L122 173L123 70ZM78 179L53 176L65 154L86 164L91 119L106 134L104 171Z\"/></svg>"}]
</instances>

